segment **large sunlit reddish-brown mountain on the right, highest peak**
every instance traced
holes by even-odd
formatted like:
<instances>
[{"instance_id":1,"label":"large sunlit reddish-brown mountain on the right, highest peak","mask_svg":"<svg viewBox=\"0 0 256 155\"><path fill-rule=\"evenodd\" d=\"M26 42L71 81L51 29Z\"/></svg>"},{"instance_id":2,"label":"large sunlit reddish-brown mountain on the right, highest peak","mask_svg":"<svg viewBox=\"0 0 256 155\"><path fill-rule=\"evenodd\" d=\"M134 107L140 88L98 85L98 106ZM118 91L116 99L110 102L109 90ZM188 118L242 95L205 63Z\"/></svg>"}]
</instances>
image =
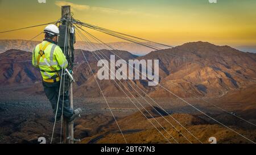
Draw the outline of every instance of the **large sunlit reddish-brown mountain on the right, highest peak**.
<instances>
[{"instance_id":1,"label":"large sunlit reddish-brown mountain on the right, highest peak","mask_svg":"<svg viewBox=\"0 0 256 155\"><path fill-rule=\"evenodd\" d=\"M159 66L164 72L160 76L161 82L170 90L179 86L199 94L221 95L225 91L254 84L256 78L253 67L256 65L255 54L201 41L153 51L139 58L160 60ZM160 94L166 95L162 89L151 93L152 96ZM179 91L176 94L183 95Z\"/></svg>"}]
</instances>

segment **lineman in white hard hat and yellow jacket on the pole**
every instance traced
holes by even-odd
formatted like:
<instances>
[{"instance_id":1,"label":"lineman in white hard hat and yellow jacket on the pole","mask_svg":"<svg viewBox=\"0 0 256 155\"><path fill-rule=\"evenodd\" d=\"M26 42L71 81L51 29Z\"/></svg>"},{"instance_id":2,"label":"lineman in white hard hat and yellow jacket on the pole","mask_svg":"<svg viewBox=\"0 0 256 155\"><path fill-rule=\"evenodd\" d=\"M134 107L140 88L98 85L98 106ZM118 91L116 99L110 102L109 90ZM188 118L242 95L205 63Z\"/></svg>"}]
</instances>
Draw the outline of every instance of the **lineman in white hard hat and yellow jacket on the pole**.
<instances>
[{"instance_id":1,"label":"lineman in white hard hat and yellow jacket on the pole","mask_svg":"<svg viewBox=\"0 0 256 155\"><path fill-rule=\"evenodd\" d=\"M40 69L43 79L44 92L51 102L54 114L57 111L56 120L60 120L61 118L62 104L64 102L63 115L65 118L67 118L68 122L72 122L81 113L81 108L77 108L73 111L70 107L68 91L64 91L63 97L62 87L60 89L61 69L63 69L64 73L65 68L68 66L68 61L61 48L57 45L59 28L54 24L50 24L44 28L44 34L45 38L43 42L36 45L33 50L32 64L36 68ZM62 83L64 82L62 81ZM57 108L58 98L59 106Z\"/></svg>"}]
</instances>

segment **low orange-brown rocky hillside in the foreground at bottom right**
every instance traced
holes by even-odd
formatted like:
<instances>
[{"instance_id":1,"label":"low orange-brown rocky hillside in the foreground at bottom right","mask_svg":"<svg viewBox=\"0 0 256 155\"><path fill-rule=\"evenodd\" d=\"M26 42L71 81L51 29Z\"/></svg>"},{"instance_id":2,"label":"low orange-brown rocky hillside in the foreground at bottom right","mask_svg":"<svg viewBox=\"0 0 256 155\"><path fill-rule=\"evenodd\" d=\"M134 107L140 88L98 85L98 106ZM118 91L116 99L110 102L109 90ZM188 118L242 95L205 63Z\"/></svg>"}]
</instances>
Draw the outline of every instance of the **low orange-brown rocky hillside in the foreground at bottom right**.
<instances>
[{"instance_id":1,"label":"low orange-brown rocky hillside in the foreground at bottom right","mask_svg":"<svg viewBox=\"0 0 256 155\"><path fill-rule=\"evenodd\" d=\"M154 108L156 108L157 111L159 110L157 107ZM216 137L218 144L250 143L250 141L244 139L240 135L237 135L235 132L230 131L230 129L225 128L220 124L209 123L204 119L199 118L199 116L189 114L170 114L163 115L162 117L155 113L156 110L154 110L154 108L146 108L146 110L153 116L147 119L140 112L135 112L134 114L117 120L127 143L168 143L163 135L171 143L189 143L189 141L191 141L191 143L200 143L201 141L202 143L209 144L209 137ZM146 110L142 110L143 114L147 113ZM159 110L159 112L162 111ZM184 128L181 127L180 124L176 123L174 119L182 124ZM156 128L150 122L154 124L158 130L156 130ZM162 127L158 123L162 124ZM172 127L171 124L174 125L176 129ZM185 128L188 129L193 136L188 133ZM81 125L77 125L76 129L82 130ZM255 129L245 130L236 128L235 131L248 137L250 140L255 140L256 138ZM186 140L184 136L187 137L189 141ZM113 122L112 124L108 125L108 128L102 128L101 133L93 136L88 135L88 137L82 139L81 143L124 143L124 140L121 133L118 132L117 125L115 122Z\"/></svg>"}]
</instances>

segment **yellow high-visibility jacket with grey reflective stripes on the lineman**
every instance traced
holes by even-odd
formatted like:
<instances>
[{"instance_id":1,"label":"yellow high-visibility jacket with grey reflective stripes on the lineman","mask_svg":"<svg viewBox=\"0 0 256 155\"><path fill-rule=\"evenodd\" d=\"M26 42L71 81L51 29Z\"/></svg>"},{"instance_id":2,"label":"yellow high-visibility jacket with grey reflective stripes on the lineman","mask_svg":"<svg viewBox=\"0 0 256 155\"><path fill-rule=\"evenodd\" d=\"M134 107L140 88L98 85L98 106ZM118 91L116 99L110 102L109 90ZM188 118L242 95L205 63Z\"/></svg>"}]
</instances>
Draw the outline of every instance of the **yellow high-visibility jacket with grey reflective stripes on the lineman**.
<instances>
[{"instance_id":1,"label":"yellow high-visibility jacket with grey reflective stripes on the lineman","mask_svg":"<svg viewBox=\"0 0 256 155\"><path fill-rule=\"evenodd\" d=\"M40 50L44 51L44 56L42 52L41 55L39 54ZM40 69L43 81L56 82L60 80L59 70L62 67L63 69L67 68L68 61L58 45L44 40L33 50L32 65Z\"/></svg>"}]
</instances>

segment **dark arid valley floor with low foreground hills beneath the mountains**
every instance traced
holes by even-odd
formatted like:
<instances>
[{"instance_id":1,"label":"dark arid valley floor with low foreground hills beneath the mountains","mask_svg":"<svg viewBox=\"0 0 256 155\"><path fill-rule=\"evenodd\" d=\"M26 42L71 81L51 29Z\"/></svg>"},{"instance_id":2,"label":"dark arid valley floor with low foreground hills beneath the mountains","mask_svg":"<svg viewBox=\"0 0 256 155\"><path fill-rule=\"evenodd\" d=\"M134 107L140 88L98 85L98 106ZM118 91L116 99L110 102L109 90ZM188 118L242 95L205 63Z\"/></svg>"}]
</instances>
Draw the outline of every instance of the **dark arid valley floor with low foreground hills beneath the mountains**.
<instances>
[{"instance_id":1,"label":"dark arid valley floor with low foreground hills beneath the mountains","mask_svg":"<svg viewBox=\"0 0 256 155\"><path fill-rule=\"evenodd\" d=\"M47 143L51 140L54 116L47 98L44 94L30 95L19 91L31 85L33 84L1 87L0 143L39 143L38 137L41 136L46 137ZM206 100L229 112L235 112L236 115L255 124L255 111L250 110L250 108L248 108L249 110L241 111L241 105L242 107L251 107L254 104L245 103L243 100L241 102L226 101L225 97L228 95L232 95L232 92L228 92L224 96L221 95L220 98ZM117 125L103 98L75 97L74 99L75 107L81 107L83 110L81 118L75 121L76 139L81 139L81 143L124 143L123 137L118 132ZM150 99L147 98L151 105L156 106L156 110L161 112L170 123L174 124L179 132L167 123L145 100L142 98L137 99L163 125L167 132L155 122L154 118L148 115L140 104L136 103L138 107L141 108L142 112L156 125L163 135L170 138L172 143L175 143L175 141L171 139L170 135L174 136L179 143L188 143L180 133L183 133L192 143L200 143L185 131L181 125L177 124L174 119L170 118L166 112L156 108L156 104L150 102ZM155 98L155 100L203 143L210 143L208 141L209 137L216 137L217 143L250 143L176 98ZM226 114L199 99L187 98L185 100L250 140L256 140L255 126ZM147 119L128 98L112 97L108 98L108 101L128 143L167 143L164 137L160 135L152 124L148 123ZM223 104L223 102L226 102L226 104ZM169 133L171 134L169 135ZM53 143L60 143L60 122L56 124Z\"/></svg>"}]
</instances>

